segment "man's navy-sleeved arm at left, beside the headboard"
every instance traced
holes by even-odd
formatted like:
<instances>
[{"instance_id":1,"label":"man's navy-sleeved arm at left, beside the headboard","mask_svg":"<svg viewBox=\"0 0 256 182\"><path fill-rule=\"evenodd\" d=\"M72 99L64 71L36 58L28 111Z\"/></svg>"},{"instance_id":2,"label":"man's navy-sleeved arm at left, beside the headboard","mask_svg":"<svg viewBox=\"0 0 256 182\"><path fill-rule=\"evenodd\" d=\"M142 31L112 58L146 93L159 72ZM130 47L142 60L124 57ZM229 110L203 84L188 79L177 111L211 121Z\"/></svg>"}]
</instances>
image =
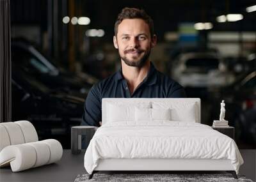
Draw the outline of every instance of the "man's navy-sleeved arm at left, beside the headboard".
<instances>
[{"instance_id":1,"label":"man's navy-sleeved arm at left, beside the headboard","mask_svg":"<svg viewBox=\"0 0 256 182\"><path fill-rule=\"evenodd\" d=\"M84 113L82 126L100 126L101 121L101 102L99 85L94 85L90 89L86 101L84 102Z\"/></svg>"}]
</instances>

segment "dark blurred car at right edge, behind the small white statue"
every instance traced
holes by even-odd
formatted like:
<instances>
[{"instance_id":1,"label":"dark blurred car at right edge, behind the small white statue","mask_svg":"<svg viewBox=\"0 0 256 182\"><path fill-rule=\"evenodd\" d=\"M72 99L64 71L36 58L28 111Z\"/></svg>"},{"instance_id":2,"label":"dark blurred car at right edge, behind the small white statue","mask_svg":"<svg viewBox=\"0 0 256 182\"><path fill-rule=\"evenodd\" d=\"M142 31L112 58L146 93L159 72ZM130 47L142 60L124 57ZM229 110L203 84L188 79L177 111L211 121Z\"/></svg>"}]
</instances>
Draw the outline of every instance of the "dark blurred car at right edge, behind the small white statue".
<instances>
[{"instance_id":1,"label":"dark blurred car at right edge, behind the small white statue","mask_svg":"<svg viewBox=\"0 0 256 182\"><path fill-rule=\"evenodd\" d=\"M244 73L229 86L209 92L212 120L218 119L220 102L225 100L225 119L231 126L236 126L237 139L253 144L256 148L256 71Z\"/></svg>"}]
</instances>

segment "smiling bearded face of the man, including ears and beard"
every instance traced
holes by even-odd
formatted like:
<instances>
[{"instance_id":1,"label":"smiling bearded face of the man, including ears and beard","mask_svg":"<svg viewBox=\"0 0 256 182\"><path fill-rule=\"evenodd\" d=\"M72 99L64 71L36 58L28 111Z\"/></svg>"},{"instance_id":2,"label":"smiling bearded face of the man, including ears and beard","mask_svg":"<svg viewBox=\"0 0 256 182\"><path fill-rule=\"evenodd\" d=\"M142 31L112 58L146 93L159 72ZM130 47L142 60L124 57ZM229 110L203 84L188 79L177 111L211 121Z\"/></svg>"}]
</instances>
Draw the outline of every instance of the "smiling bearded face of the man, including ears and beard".
<instances>
[{"instance_id":1,"label":"smiling bearded face of the man, including ears and beard","mask_svg":"<svg viewBox=\"0 0 256 182\"><path fill-rule=\"evenodd\" d=\"M151 38L148 24L144 20L124 19L118 25L118 32L113 41L125 64L141 67L156 44L156 36Z\"/></svg>"}]
</instances>

